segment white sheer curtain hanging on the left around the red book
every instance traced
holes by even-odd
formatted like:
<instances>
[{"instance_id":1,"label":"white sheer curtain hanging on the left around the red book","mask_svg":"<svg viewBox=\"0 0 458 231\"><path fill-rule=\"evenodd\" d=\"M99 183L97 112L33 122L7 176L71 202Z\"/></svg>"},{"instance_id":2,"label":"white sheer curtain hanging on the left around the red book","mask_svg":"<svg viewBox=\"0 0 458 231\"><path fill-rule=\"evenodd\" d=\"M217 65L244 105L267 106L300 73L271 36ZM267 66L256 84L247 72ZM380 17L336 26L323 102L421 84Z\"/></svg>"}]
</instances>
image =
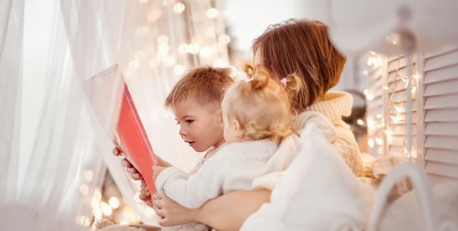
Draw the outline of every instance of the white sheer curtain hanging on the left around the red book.
<instances>
[{"instance_id":1,"label":"white sheer curtain hanging on the left around the red book","mask_svg":"<svg viewBox=\"0 0 458 231\"><path fill-rule=\"evenodd\" d=\"M179 139L163 100L184 70L227 65L227 38L214 1L179 3L0 1L2 229L88 229L105 164L127 203L155 224L82 82L119 63L155 152L192 168L199 155ZM106 102L113 119L115 101Z\"/></svg>"}]
</instances>

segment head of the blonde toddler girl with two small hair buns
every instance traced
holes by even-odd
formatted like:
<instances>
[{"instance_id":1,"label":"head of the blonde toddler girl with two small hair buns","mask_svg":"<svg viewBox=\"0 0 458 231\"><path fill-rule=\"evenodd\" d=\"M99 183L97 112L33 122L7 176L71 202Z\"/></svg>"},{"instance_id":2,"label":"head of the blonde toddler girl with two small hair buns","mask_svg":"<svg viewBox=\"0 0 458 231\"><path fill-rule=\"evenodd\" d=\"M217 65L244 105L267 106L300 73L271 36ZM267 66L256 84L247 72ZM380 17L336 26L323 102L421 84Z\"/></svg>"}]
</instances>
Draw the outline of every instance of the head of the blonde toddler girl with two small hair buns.
<instances>
[{"instance_id":1,"label":"head of the blonde toddler girl with two small hair buns","mask_svg":"<svg viewBox=\"0 0 458 231\"><path fill-rule=\"evenodd\" d=\"M297 75L288 75L283 84L271 79L264 70L256 71L246 64L245 72L251 77L228 88L222 102L224 117L240 124L240 139L271 139L280 142L293 133L290 96L288 92L300 89Z\"/></svg>"}]
</instances>

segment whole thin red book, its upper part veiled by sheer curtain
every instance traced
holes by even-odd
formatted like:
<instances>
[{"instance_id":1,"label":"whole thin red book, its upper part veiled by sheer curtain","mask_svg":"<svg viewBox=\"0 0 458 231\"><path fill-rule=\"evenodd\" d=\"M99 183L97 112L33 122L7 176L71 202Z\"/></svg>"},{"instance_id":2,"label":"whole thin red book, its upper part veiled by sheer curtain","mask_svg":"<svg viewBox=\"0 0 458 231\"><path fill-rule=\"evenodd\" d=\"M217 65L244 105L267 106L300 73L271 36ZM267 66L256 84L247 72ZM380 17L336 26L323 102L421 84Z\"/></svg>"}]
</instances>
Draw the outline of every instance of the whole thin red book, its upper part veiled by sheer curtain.
<instances>
[{"instance_id":1,"label":"whole thin red book, its upper part veiled by sheer curtain","mask_svg":"<svg viewBox=\"0 0 458 231\"><path fill-rule=\"evenodd\" d=\"M118 64L85 80L83 87L100 127L142 174L150 193L155 193L152 166L159 162Z\"/></svg>"}]
</instances>

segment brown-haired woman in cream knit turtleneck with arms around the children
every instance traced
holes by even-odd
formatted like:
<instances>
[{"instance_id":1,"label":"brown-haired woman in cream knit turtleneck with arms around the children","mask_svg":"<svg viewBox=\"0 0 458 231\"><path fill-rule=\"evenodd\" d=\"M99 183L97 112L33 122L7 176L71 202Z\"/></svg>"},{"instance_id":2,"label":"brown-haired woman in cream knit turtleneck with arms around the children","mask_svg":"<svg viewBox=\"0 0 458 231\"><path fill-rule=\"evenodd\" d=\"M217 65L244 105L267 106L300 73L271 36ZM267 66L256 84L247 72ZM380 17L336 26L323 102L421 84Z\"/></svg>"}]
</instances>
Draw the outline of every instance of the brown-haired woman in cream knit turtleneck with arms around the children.
<instances>
[{"instance_id":1,"label":"brown-haired woman in cream knit turtleneck with arms around the children","mask_svg":"<svg viewBox=\"0 0 458 231\"><path fill-rule=\"evenodd\" d=\"M346 92L328 92L335 86L345 64L328 38L328 27L320 21L289 20L269 26L253 44L254 63L271 72L276 80L296 73L303 81L303 89L292 97L298 117L296 125L302 129L307 112L324 114L335 128L333 146L355 176L363 176L363 166L355 137L342 116L348 116L353 104ZM132 178L141 176L125 165ZM140 198L149 201L150 195L142 184ZM165 195L155 200L158 215L165 216L161 225L177 225L197 221L217 230L239 230L244 220L263 203L269 203L271 190L238 191L209 200L202 208L183 208ZM161 208L161 209L157 209Z\"/></svg>"}]
</instances>

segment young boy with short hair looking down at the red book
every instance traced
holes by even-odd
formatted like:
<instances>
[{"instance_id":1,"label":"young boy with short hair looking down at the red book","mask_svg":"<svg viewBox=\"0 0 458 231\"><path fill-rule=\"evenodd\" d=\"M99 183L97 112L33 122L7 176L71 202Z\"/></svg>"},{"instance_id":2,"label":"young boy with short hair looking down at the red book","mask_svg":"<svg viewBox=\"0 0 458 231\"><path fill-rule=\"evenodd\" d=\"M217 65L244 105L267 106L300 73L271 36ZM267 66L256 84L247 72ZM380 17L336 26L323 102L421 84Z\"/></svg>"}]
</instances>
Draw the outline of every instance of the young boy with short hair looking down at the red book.
<instances>
[{"instance_id":1,"label":"young boy with short hair looking down at the red book","mask_svg":"<svg viewBox=\"0 0 458 231\"><path fill-rule=\"evenodd\" d=\"M224 91L234 80L229 76L228 68L195 68L190 70L179 80L170 91L165 100L165 107L173 110L179 135L184 142L195 151L207 151L200 163L191 171L197 171L200 165L206 161L215 149L224 142L224 125L222 122L221 102ZM118 156L122 152L115 149ZM170 163L158 158L160 166L155 169L160 172L162 168L171 166ZM140 173L132 168L128 161L123 160L132 178L142 179ZM142 182L142 200L150 203L147 196L147 188Z\"/></svg>"}]
</instances>

